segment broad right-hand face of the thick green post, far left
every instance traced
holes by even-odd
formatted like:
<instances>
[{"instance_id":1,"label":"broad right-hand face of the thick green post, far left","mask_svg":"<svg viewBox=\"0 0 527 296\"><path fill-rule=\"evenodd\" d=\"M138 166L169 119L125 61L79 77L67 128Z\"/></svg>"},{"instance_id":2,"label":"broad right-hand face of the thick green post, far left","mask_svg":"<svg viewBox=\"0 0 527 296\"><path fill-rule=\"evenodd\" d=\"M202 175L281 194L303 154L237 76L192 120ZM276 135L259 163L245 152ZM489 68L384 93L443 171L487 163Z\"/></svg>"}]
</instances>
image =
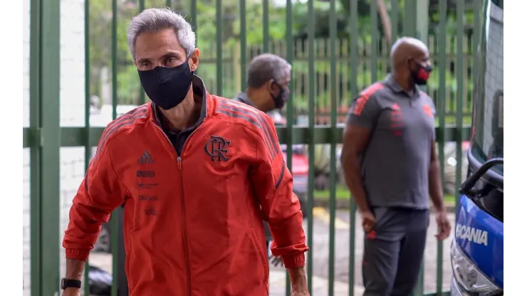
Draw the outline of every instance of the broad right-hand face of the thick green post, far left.
<instances>
[{"instance_id":1,"label":"broad right-hand face of the thick green post, far left","mask_svg":"<svg viewBox=\"0 0 527 296\"><path fill-rule=\"evenodd\" d=\"M60 194L61 194L61 1L48 0L40 6L41 68L41 295L55 295L59 289Z\"/></svg>"}]
</instances>

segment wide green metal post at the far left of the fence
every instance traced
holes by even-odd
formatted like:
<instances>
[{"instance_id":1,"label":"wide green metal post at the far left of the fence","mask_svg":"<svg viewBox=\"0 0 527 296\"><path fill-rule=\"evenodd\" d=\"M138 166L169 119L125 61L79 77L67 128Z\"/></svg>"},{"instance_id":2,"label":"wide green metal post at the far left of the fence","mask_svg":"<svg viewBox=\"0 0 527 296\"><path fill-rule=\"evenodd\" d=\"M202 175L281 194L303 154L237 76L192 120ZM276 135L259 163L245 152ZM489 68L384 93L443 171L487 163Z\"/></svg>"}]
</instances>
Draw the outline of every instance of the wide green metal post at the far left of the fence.
<instances>
[{"instance_id":1,"label":"wide green metal post at the far left of the fence","mask_svg":"<svg viewBox=\"0 0 527 296\"><path fill-rule=\"evenodd\" d=\"M59 291L61 0L31 1L31 295ZM34 104L34 105L33 105Z\"/></svg>"}]
</instances>

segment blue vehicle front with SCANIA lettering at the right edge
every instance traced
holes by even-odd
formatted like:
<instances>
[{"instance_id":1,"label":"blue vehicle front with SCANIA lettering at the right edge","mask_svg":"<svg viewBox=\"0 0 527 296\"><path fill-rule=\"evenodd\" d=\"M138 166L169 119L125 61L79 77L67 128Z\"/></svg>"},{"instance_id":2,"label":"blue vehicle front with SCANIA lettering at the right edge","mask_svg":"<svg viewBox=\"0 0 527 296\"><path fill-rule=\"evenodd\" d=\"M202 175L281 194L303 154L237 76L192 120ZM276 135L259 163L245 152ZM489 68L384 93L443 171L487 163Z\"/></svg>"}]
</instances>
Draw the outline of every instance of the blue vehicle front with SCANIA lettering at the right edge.
<instances>
[{"instance_id":1,"label":"blue vehicle front with SCANIA lettering at the right edge","mask_svg":"<svg viewBox=\"0 0 527 296\"><path fill-rule=\"evenodd\" d=\"M503 1L483 4L469 169L450 250L454 296L503 295Z\"/></svg>"}]
</instances>

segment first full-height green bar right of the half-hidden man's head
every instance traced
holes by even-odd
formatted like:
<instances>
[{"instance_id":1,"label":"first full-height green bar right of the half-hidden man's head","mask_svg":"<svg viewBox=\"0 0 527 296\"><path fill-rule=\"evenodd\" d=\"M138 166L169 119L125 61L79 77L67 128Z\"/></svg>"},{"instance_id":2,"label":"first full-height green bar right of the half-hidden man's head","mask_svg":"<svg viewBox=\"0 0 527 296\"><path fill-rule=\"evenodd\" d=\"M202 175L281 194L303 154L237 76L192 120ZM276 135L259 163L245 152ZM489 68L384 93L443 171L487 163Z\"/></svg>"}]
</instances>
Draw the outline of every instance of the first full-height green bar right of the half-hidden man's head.
<instances>
[{"instance_id":1,"label":"first full-height green bar right of the half-hidden man's head","mask_svg":"<svg viewBox=\"0 0 527 296\"><path fill-rule=\"evenodd\" d=\"M313 248L313 181L315 179L315 9L314 0L308 0L308 246ZM308 252L308 291L313 294L313 251Z\"/></svg>"}]
</instances>

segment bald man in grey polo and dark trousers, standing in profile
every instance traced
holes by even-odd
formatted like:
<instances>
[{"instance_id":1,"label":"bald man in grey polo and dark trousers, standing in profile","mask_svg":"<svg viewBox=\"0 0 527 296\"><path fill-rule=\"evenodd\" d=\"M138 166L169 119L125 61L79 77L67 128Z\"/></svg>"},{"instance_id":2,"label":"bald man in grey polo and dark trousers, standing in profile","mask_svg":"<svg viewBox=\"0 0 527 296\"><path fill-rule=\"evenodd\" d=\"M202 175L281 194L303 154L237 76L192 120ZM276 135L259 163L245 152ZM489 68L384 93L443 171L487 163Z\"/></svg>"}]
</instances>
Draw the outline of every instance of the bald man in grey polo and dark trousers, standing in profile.
<instances>
[{"instance_id":1,"label":"bald man in grey polo and dark trousers, standing in profile","mask_svg":"<svg viewBox=\"0 0 527 296\"><path fill-rule=\"evenodd\" d=\"M365 231L366 296L411 295L436 208L437 239L450 233L435 149L435 108L416 85L432 72L427 46L400 38L392 73L362 91L350 108L341 161Z\"/></svg>"}]
</instances>

